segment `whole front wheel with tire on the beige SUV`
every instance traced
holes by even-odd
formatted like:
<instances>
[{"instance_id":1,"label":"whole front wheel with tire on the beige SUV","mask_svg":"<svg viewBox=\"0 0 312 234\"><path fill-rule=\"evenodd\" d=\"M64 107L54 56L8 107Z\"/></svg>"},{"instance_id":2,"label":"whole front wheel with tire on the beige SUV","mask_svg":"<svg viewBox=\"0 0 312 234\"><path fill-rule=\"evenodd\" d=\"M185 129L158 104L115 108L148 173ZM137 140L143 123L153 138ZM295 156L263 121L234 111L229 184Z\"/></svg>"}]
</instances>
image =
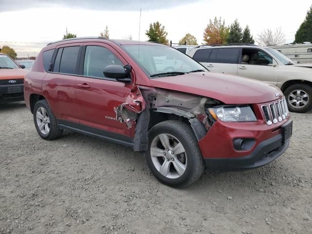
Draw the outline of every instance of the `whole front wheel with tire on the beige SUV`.
<instances>
[{"instance_id":1,"label":"whole front wheel with tire on the beige SUV","mask_svg":"<svg viewBox=\"0 0 312 234\"><path fill-rule=\"evenodd\" d=\"M312 109L312 87L310 85L293 84L285 90L284 95L289 111L305 113ZM299 99L298 102L295 99L296 97ZM307 103L304 104L302 101ZM299 103L299 106L296 107L297 103Z\"/></svg>"}]
</instances>

